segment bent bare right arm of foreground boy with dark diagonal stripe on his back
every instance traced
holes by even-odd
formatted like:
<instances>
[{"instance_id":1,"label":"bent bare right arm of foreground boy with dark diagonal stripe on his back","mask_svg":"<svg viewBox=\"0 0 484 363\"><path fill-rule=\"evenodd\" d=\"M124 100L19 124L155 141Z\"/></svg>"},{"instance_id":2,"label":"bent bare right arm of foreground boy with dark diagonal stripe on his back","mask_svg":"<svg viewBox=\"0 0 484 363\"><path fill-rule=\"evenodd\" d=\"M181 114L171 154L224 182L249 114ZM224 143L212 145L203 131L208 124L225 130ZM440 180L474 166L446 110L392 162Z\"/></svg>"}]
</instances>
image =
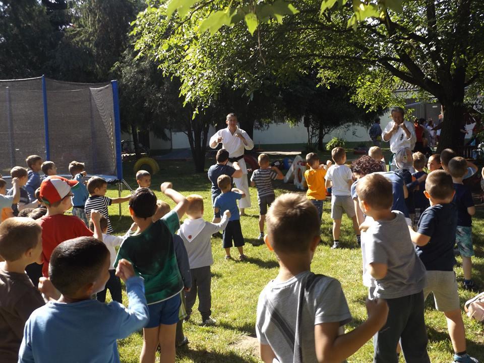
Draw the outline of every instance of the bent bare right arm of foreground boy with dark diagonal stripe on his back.
<instances>
[{"instance_id":1,"label":"bent bare right arm of foreground boy with dark diagonal stripe on his back","mask_svg":"<svg viewBox=\"0 0 484 363\"><path fill-rule=\"evenodd\" d=\"M388 305L384 299L367 299L368 319L352 331L339 335L339 323L315 325L314 340L318 362L339 363L361 348L386 323ZM261 350L262 354L262 350Z\"/></svg>"}]
</instances>

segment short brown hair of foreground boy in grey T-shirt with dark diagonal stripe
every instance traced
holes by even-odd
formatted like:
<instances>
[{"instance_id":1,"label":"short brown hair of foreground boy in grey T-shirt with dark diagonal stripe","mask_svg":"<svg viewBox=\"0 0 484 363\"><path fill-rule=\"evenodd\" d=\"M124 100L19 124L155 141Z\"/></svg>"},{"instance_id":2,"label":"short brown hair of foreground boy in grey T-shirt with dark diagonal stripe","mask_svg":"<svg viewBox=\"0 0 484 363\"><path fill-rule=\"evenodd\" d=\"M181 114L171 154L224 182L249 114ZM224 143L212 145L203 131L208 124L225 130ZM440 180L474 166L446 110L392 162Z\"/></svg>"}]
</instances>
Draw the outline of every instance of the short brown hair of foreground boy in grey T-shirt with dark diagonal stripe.
<instances>
[{"instance_id":1,"label":"short brown hair of foreground boy in grey T-shirt with dark diagonal stripe","mask_svg":"<svg viewBox=\"0 0 484 363\"><path fill-rule=\"evenodd\" d=\"M313 203L297 193L278 197L267 212L267 231L274 251L300 254L319 236L321 219Z\"/></svg>"}]
</instances>

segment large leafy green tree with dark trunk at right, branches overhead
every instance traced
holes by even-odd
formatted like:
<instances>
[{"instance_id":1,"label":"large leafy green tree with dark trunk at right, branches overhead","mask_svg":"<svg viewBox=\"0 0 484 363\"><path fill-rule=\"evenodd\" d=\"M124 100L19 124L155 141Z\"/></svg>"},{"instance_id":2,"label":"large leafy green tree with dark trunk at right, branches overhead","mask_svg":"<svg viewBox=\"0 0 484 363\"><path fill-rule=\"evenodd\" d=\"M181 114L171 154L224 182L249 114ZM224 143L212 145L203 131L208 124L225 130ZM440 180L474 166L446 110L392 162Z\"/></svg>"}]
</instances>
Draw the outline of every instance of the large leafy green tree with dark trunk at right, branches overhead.
<instances>
[{"instance_id":1,"label":"large leafy green tree with dark trunk at right, branches overhead","mask_svg":"<svg viewBox=\"0 0 484 363\"><path fill-rule=\"evenodd\" d=\"M169 18L151 2L137 20L137 46L179 75L181 92L195 103L207 102L227 82L250 93L269 75L283 82L312 67L321 84L344 84L355 102L373 108L395 102L395 89L416 86L445 106L439 147L457 146L466 90L481 90L484 82L484 2L403 0L378 8L370 1L357 15L353 2L297 0L291 2L297 12L274 20L273 9L264 14L262 6L276 3L251 8L241 2L227 12L221 1L172 0L168 8L178 13ZM257 27L241 17L244 7L246 15L256 14ZM230 27L209 24L216 14Z\"/></svg>"}]
</instances>

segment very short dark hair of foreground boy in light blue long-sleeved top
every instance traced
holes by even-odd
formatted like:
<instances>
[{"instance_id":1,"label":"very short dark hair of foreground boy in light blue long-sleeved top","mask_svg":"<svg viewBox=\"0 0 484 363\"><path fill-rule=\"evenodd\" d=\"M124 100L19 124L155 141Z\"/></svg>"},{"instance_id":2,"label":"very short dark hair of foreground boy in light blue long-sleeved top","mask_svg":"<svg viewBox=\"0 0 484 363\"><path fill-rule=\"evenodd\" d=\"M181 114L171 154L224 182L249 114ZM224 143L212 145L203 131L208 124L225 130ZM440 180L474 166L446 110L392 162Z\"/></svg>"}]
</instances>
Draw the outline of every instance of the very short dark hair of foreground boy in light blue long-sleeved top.
<instances>
[{"instance_id":1,"label":"very short dark hair of foreground boy in light blue long-sleeved top","mask_svg":"<svg viewBox=\"0 0 484 363\"><path fill-rule=\"evenodd\" d=\"M109 250L97 238L68 239L50 255L50 281L63 295L73 295L81 287L96 281L107 258Z\"/></svg>"}]
</instances>

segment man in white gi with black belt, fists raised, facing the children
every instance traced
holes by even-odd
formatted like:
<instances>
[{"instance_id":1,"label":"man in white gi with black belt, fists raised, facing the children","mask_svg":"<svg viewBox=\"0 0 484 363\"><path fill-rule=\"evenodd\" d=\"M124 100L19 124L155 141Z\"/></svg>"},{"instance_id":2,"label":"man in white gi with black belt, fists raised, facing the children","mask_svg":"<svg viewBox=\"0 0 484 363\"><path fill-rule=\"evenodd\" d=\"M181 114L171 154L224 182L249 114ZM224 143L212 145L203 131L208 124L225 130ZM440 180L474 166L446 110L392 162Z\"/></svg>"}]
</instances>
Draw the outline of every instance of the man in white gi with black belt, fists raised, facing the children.
<instances>
[{"instance_id":1,"label":"man in white gi with black belt, fists raised, facing the children","mask_svg":"<svg viewBox=\"0 0 484 363\"><path fill-rule=\"evenodd\" d=\"M229 152L227 165L232 165L237 161L243 175L239 178L233 178L235 186L246 194L245 198L240 199L238 207L240 215L245 215L245 208L251 207L251 195L249 192L249 180L247 178L247 166L244 160L244 149L252 150L254 142L249 135L237 126L237 116L229 113L225 119L227 128L219 130L210 138L210 147L215 149L218 144Z\"/></svg>"}]
</instances>

